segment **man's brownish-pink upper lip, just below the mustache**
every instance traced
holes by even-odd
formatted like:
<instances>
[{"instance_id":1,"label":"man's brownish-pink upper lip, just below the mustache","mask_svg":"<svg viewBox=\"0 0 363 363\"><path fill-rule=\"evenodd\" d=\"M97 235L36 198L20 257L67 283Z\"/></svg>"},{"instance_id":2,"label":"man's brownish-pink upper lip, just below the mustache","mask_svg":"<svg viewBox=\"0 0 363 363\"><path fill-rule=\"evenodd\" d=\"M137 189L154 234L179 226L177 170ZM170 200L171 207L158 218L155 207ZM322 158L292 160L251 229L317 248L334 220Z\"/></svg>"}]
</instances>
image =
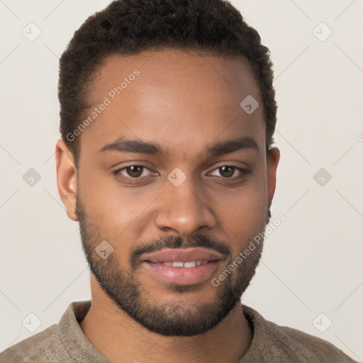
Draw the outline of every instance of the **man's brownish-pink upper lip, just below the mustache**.
<instances>
[{"instance_id":1,"label":"man's brownish-pink upper lip, just below the mustache","mask_svg":"<svg viewBox=\"0 0 363 363\"><path fill-rule=\"evenodd\" d=\"M150 253L144 256L143 260L148 262L191 262L191 261L216 261L223 259L218 252L206 250L205 248L166 248L159 252Z\"/></svg>"}]
</instances>

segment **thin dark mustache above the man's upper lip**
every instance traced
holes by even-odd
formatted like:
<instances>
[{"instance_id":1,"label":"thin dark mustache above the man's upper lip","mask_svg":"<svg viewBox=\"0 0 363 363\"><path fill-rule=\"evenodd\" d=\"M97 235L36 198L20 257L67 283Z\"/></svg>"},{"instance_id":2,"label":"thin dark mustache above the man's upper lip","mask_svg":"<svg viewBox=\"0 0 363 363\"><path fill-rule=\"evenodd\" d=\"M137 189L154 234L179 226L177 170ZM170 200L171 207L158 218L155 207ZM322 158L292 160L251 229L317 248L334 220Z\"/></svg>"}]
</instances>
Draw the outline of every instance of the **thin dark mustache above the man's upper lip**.
<instances>
[{"instance_id":1,"label":"thin dark mustache above the man's upper lip","mask_svg":"<svg viewBox=\"0 0 363 363\"><path fill-rule=\"evenodd\" d=\"M164 250L164 248L189 248L204 247L215 250L225 257L231 256L232 252L225 242L220 242L208 235L195 235L192 237L182 238L179 235L169 235L166 238L154 239L147 243L141 243L129 257L130 266L136 269L143 261L141 255Z\"/></svg>"}]
</instances>

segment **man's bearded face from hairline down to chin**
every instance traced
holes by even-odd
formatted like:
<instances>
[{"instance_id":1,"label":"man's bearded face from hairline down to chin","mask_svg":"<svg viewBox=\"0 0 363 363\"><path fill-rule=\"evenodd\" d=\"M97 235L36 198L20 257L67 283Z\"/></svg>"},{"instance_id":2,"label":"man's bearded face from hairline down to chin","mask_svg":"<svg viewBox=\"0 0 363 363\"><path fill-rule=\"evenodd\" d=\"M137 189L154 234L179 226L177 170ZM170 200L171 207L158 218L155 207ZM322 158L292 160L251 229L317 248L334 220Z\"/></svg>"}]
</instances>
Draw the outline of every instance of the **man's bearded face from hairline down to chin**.
<instances>
[{"instance_id":1,"label":"man's bearded face from hairline down to chin","mask_svg":"<svg viewBox=\"0 0 363 363\"><path fill-rule=\"evenodd\" d=\"M248 95L259 102L252 113L240 106ZM265 150L250 65L180 50L113 55L89 101L89 114L98 111L78 136L77 186L69 189L75 198L62 199L79 220L92 274L150 331L210 330L240 303L255 274L262 243L213 284L264 232L279 162L277 148ZM154 252L192 247L218 260L195 267L150 262Z\"/></svg>"}]
</instances>

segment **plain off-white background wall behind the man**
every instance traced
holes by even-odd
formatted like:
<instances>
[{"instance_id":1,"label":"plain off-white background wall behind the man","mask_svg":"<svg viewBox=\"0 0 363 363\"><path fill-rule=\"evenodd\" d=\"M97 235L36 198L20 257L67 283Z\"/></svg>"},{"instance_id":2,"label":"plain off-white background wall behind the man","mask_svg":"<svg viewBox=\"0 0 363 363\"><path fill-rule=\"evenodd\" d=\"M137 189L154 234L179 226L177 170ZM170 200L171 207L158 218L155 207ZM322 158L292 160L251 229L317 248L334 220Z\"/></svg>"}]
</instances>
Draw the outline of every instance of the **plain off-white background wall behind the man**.
<instances>
[{"instance_id":1,"label":"plain off-white background wall behind the man","mask_svg":"<svg viewBox=\"0 0 363 363\"><path fill-rule=\"evenodd\" d=\"M57 193L57 68L74 30L109 2L0 0L0 351L32 335L29 313L38 333L91 298L78 224ZM363 1L232 3L272 52L281 150L272 220L286 216L243 302L362 361ZM30 22L42 31L33 42L22 34ZM321 22L333 30L325 41ZM41 177L33 186L30 168ZM320 168L332 176L323 186Z\"/></svg>"}]
</instances>

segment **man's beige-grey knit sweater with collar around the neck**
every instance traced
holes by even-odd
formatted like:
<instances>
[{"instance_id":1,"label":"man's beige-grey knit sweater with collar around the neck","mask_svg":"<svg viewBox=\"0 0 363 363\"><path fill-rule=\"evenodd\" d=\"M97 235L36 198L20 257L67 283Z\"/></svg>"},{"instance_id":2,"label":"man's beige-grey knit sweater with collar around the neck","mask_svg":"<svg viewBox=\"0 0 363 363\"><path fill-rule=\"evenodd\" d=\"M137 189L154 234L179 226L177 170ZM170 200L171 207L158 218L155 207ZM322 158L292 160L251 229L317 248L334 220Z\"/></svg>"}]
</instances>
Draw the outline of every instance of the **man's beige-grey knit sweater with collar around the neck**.
<instances>
[{"instance_id":1,"label":"man's beige-grey knit sweater with collar around the neck","mask_svg":"<svg viewBox=\"0 0 363 363\"><path fill-rule=\"evenodd\" d=\"M91 301L70 303L58 324L1 352L0 363L110 363L79 326L90 306ZM242 305L242 309L252 323L253 338L250 348L237 363L356 362L325 340L265 320L248 306Z\"/></svg>"}]
</instances>

